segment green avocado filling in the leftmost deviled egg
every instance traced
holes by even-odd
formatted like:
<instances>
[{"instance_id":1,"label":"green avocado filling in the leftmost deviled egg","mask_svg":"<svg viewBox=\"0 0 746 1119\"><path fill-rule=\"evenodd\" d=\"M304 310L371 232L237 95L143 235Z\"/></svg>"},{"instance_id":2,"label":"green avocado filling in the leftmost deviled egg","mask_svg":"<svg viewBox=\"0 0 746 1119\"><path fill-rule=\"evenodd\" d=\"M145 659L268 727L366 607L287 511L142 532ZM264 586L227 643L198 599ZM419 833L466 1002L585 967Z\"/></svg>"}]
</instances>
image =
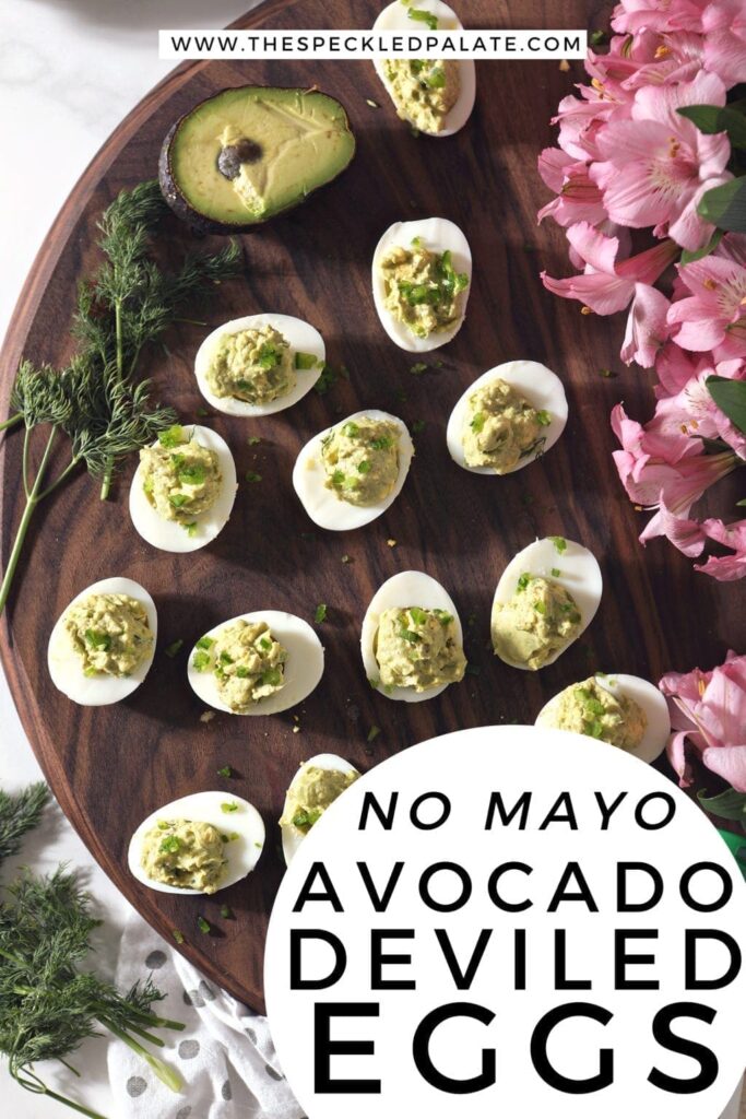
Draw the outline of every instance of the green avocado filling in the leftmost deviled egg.
<instances>
[{"instance_id":1,"label":"green avocado filling in the leftmost deviled egg","mask_svg":"<svg viewBox=\"0 0 746 1119\"><path fill-rule=\"evenodd\" d=\"M148 612L129 594L91 594L66 612L64 628L86 676L131 676L148 657Z\"/></svg>"}]
</instances>

